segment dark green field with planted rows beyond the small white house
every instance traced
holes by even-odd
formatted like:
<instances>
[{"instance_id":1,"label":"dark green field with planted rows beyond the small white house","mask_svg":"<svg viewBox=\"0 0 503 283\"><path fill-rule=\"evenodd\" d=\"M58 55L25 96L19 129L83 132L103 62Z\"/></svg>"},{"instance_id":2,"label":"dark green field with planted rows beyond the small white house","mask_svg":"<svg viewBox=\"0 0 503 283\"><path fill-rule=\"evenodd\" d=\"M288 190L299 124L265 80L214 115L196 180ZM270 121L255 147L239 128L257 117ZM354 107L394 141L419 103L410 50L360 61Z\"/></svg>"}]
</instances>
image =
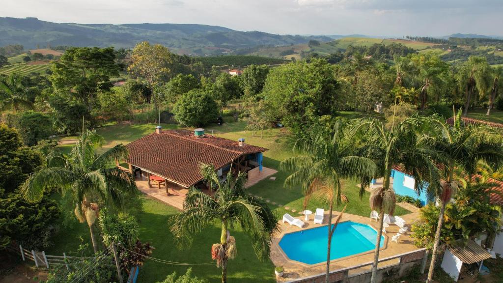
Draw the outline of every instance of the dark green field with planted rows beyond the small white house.
<instances>
[{"instance_id":1,"label":"dark green field with planted rows beyond the small white house","mask_svg":"<svg viewBox=\"0 0 503 283\"><path fill-rule=\"evenodd\" d=\"M199 59L206 65L214 66L233 66L244 67L251 64L282 64L285 62L283 59L268 58L261 56L249 55L228 55L228 56L213 56L213 57L199 57Z\"/></svg>"}]
</instances>

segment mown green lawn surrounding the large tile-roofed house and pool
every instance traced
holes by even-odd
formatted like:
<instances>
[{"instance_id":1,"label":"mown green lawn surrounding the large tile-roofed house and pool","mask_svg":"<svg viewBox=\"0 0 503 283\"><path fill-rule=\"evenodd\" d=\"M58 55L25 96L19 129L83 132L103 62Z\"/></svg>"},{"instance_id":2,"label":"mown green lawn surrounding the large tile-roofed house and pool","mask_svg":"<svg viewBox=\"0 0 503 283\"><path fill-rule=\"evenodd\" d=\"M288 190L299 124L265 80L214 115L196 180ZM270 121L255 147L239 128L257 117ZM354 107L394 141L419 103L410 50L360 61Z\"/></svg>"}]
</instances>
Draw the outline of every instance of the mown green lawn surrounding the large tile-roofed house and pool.
<instances>
[{"instance_id":1,"label":"mown green lawn surrounding the large tile-roofed house and pool","mask_svg":"<svg viewBox=\"0 0 503 283\"><path fill-rule=\"evenodd\" d=\"M351 113L343 113L351 115ZM278 169L282 160L285 160L292 155L291 148L293 140L289 131L285 128L275 128L265 130L263 136L261 132L250 132L244 130L244 122L224 123L222 126L206 127L207 133L237 140L240 137L245 138L245 143L268 148L269 151L264 154L264 166ZM102 134L107 144L106 148L110 148L117 143L127 144L145 134L153 131L155 124L145 125L122 125L110 124L98 129ZM166 128L174 128L176 125L163 125ZM68 137L65 137L67 139ZM62 147L63 151L69 151L71 145ZM255 186L249 188L249 192L254 195L260 195L265 199L276 202L274 212L278 217L281 217L286 212L298 216L298 211L303 208L303 196L300 187L286 189L283 187L285 178L288 176L286 172L278 172L276 180L263 180ZM358 196L358 187L356 182L347 181L344 183L345 194L349 199L347 213L356 214L368 217L370 215L369 208L369 193L366 192L363 199ZM135 213L135 216L140 222L141 232L140 239L142 241L151 242L156 248L153 257L190 263L210 262L211 245L219 239L218 224L198 235L191 248L187 250L179 250L175 247L173 237L167 227L167 219L169 216L176 214L178 211L168 205L165 205L156 200L151 200L146 197L143 200L143 211ZM278 206L282 204L282 206ZM285 209L289 207L289 210ZM320 200L313 199L308 206L308 209L314 210L316 207L328 208L326 203ZM296 209L292 213L292 209ZM336 209L341 210L342 207ZM71 214L71 212L68 212ZM408 213L397 206L396 214L403 215ZM259 261L249 241L240 231L231 232L236 237L238 245L238 256L231 261L228 266L229 279L239 282L274 282L274 266L270 260L265 262ZM75 251L78 248L81 240L90 243L89 229L86 224L79 224L76 220L68 228L63 229L56 237L54 237L54 246L47 250L48 254L61 254L63 251L67 254L70 251ZM91 250L91 248L90 248ZM140 282L155 282L163 279L167 274L177 271L184 273L187 266L164 265L162 263L147 261L143 270L140 272ZM220 269L214 265L197 265L193 267L194 274L203 278L207 278L212 282L219 281Z\"/></svg>"}]
</instances>

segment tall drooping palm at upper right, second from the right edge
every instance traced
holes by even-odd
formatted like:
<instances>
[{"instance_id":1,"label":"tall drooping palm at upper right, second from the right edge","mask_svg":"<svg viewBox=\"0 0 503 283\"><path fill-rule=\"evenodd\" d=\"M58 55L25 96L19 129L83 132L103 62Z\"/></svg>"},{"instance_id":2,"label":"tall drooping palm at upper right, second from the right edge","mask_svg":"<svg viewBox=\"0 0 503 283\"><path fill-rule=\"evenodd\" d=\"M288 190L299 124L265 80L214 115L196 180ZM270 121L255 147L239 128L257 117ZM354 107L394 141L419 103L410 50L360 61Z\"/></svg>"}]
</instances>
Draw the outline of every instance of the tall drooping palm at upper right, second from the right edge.
<instances>
[{"instance_id":1,"label":"tall drooping palm at upper right, second from the right edge","mask_svg":"<svg viewBox=\"0 0 503 283\"><path fill-rule=\"evenodd\" d=\"M465 92L465 105L463 116L466 117L473 93L477 90L483 94L486 89L487 60L485 57L471 56L468 58L458 73L458 82L461 90Z\"/></svg>"}]
</instances>

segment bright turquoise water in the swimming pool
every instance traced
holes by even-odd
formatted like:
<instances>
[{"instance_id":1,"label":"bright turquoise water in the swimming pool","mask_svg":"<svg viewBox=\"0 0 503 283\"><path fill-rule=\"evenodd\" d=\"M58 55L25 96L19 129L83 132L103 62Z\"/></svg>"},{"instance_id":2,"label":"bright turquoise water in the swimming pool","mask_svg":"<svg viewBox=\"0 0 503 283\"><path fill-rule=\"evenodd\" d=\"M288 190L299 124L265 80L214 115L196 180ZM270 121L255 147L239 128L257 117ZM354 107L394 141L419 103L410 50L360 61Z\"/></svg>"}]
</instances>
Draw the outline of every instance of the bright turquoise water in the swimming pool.
<instances>
[{"instance_id":1,"label":"bright turquoise water in the swimming pool","mask_svg":"<svg viewBox=\"0 0 503 283\"><path fill-rule=\"evenodd\" d=\"M338 259L374 250L377 231L370 226L356 222L342 222L333 233L330 259ZM326 261L328 228L326 226L288 233L279 245L288 258L307 264ZM381 237L380 247L384 245Z\"/></svg>"}]
</instances>

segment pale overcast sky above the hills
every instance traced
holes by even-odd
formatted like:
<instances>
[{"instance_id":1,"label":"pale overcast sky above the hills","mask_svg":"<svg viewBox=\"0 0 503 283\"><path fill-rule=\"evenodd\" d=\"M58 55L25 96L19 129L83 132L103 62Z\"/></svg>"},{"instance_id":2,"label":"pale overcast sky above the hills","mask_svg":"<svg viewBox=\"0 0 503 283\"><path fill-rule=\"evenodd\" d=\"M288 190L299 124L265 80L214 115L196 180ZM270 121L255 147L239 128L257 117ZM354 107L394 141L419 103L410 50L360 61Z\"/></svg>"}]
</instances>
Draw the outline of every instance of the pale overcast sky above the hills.
<instances>
[{"instance_id":1,"label":"pale overcast sky above the hills","mask_svg":"<svg viewBox=\"0 0 503 283\"><path fill-rule=\"evenodd\" d=\"M503 35L503 0L1 0L1 17L278 34Z\"/></svg>"}]
</instances>

